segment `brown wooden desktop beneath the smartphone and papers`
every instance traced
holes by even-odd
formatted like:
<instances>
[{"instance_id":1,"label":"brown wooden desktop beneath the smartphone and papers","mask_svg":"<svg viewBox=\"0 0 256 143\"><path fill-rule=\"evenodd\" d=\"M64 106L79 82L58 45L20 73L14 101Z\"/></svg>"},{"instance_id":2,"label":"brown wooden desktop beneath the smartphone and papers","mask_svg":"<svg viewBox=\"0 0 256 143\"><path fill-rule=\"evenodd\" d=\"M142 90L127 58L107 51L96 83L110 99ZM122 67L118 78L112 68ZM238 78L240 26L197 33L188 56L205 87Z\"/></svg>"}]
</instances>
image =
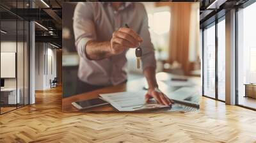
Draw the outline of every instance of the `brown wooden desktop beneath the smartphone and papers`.
<instances>
[{"instance_id":1,"label":"brown wooden desktop beneath the smartphone and papers","mask_svg":"<svg viewBox=\"0 0 256 143\"><path fill-rule=\"evenodd\" d=\"M200 85L200 78L198 77L192 77L192 78L196 78L196 82L198 82L198 84ZM67 98L63 98L62 99L62 111L63 112L78 112L79 110L77 110L75 107L73 107L73 105L71 104L72 102L77 102L79 100L90 100L93 98L98 98L99 94L101 93L117 93L117 92L123 92L123 91L140 91L141 89L143 89L143 86L145 85L145 80L143 79L136 79L136 80L131 80L126 82L125 84L120 84L117 86L111 86L111 87L104 87L102 89L97 89L95 91L91 91L88 93L82 93L82 94L77 94L74 96L70 96ZM161 88L161 91L163 91L163 93L165 93L165 89ZM168 91L170 90L176 90L177 88L172 88L172 87L168 87ZM116 109L114 109L111 105L104 105L104 106L100 106L100 107L95 107L92 109L87 109L87 110L83 110L83 111L116 111Z\"/></svg>"}]
</instances>

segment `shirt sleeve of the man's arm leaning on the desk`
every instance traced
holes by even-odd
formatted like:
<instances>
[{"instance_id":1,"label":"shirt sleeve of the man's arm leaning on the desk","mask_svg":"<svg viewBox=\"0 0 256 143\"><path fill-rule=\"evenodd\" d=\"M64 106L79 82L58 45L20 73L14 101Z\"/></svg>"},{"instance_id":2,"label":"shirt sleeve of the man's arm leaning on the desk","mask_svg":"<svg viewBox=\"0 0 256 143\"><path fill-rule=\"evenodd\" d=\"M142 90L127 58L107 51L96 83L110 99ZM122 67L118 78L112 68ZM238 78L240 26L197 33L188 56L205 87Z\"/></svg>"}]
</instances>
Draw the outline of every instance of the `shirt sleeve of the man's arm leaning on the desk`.
<instances>
[{"instance_id":1,"label":"shirt sleeve of the man's arm leaning on the desk","mask_svg":"<svg viewBox=\"0 0 256 143\"><path fill-rule=\"evenodd\" d=\"M140 36L143 38L143 42L141 43L141 49L142 49L142 67L143 69L147 68L148 66L152 66L156 68L156 58L155 58L155 52L154 52L154 46L151 43L150 33L148 31L148 16L147 12L143 6L141 8L141 13L143 13L143 21L141 22L140 26Z\"/></svg>"}]
</instances>

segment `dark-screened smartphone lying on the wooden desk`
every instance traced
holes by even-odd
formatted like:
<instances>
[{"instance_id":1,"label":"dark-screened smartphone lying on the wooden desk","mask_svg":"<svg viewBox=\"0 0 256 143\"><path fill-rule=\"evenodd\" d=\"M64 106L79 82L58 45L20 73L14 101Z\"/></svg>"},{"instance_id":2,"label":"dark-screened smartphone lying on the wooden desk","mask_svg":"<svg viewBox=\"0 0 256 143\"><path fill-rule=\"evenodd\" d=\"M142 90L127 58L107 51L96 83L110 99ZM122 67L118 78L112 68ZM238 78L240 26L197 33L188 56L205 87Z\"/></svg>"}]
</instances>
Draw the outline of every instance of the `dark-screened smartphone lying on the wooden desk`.
<instances>
[{"instance_id":1,"label":"dark-screened smartphone lying on the wooden desk","mask_svg":"<svg viewBox=\"0 0 256 143\"><path fill-rule=\"evenodd\" d=\"M108 105L109 103L100 99L100 98L95 98L92 100L83 100L83 101L78 101L78 102L72 102L72 105L76 107L79 110L82 109L90 109L93 107L99 107L102 105Z\"/></svg>"}]
</instances>

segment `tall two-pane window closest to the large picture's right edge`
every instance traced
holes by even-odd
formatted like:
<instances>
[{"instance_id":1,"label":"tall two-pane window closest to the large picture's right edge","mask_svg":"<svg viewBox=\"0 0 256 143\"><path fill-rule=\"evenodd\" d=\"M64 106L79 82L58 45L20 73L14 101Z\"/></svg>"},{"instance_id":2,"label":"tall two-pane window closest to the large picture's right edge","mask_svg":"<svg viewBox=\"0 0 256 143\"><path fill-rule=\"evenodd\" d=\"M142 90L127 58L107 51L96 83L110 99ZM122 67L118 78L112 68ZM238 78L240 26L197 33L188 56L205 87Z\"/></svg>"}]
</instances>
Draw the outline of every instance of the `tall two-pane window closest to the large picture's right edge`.
<instances>
[{"instance_id":1,"label":"tall two-pane window closest to the large picture's right edge","mask_svg":"<svg viewBox=\"0 0 256 143\"><path fill-rule=\"evenodd\" d=\"M204 28L204 96L225 101L225 16ZM216 35L217 34L217 35ZM216 50L217 49L217 50ZM217 58L217 59L216 59ZM218 78L218 79L216 79Z\"/></svg>"}]
</instances>

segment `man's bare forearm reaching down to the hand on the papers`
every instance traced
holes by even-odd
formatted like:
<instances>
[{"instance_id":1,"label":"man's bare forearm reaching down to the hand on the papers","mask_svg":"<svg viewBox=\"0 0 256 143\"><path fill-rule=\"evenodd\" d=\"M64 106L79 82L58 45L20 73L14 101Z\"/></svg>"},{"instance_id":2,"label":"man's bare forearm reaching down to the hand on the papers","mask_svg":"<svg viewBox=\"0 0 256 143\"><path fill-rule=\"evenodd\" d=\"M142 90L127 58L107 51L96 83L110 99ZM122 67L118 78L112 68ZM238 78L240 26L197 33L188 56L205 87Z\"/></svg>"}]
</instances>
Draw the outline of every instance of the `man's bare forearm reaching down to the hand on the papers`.
<instances>
[{"instance_id":1,"label":"man's bare forearm reaching down to the hand on the papers","mask_svg":"<svg viewBox=\"0 0 256 143\"><path fill-rule=\"evenodd\" d=\"M143 74L147 79L148 88L158 87L156 82L156 68L153 66L148 66L143 70Z\"/></svg>"}]
</instances>

